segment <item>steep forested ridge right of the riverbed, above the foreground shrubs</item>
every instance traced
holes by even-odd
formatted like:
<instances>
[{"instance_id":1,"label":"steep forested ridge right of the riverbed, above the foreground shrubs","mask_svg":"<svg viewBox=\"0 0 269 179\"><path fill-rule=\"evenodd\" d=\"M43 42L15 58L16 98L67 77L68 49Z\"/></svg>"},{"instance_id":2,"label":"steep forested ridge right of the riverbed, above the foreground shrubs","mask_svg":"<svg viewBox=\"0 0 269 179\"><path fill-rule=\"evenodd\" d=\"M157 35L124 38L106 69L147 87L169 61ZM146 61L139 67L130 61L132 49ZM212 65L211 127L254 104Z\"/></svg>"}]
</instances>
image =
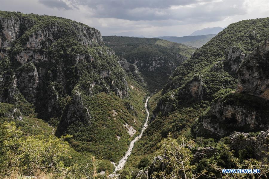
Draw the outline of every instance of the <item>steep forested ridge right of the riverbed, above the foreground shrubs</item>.
<instances>
[{"instance_id":1,"label":"steep forested ridge right of the riverbed, above the foreground shrubs","mask_svg":"<svg viewBox=\"0 0 269 179\"><path fill-rule=\"evenodd\" d=\"M263 98L268 88L268 27L269 18L230 24L177 67L163 90L151 98L154 101L149 101L151 123L126 165L138 166L137 159L153 158L157 143L169 133L173 138L185 136L217 145L212 138L222 143L234 131L266 131L268 101ZM249 156L255 156L251 151ZM225 153L221 148L219 152Z\"/></svg>"}]
</instances>

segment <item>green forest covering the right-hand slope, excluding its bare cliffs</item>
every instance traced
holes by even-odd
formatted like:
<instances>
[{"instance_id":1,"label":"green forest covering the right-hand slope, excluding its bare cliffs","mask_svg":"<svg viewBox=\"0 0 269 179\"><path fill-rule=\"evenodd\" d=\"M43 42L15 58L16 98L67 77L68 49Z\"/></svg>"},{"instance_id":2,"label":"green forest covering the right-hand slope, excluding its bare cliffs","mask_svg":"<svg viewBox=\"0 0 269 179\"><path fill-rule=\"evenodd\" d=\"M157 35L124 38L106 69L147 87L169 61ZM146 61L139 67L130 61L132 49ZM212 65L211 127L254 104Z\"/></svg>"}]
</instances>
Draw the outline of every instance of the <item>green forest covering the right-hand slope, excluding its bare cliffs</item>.
<instances>
[{"instance_id":1,"label":"green forest covering the right-hand slope, excluding its bare cliffs","mask_svg":"<svg viewBox=\"0 0 269 179\"><path fill-rule=\"evenodd\" d=\"M231 44L240 45L247 55L267 39L268 23L268 18L261 18L230 24L203 47L195 50L189 60L176 68L163 90L149 99L150 111L153 112L151 123L140 141L135 144L126 166L137 166L139 159L144 157L152 161L160 148L157 144L169 133L172 138L184 136L188 140L195 140L200 146L206 143L214 146L215 144L210 141L212 139L200 141L201 138L196 138L196 133L192 128L201 124L198 118L205 115L210 106L218 100L224 101L227 105L243 105L246 109L257 109L262 115L267 114L265 119L268 121L268 102L252 95L230 94L237 87L237 79L227 68L223 67L222 62L225 49ZM201 86L199 87L198 84ZM193 94L192 90L196 89L200 90L202 95ZM263 124L265 123L263 119ZM202 134L201 137L214 138L207 131L199 132ZM245 153L241 151L241 156L248 155ZM199 165L201 167L199 172L202 172L205 166L202 163Z\"/></svg>"}]
</instances>

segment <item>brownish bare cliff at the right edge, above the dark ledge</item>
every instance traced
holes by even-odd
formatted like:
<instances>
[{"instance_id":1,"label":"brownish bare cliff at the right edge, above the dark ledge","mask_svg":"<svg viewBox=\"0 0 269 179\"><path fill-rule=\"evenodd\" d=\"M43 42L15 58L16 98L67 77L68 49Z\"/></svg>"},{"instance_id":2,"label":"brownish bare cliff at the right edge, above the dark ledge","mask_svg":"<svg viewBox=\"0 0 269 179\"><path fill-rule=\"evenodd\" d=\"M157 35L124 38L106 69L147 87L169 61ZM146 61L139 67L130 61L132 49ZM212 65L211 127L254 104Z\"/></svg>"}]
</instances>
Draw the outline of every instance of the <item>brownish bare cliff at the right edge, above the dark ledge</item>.
<instances>
[{"instance_id":1,"label":"brownish bare cliff at the right edge, above the dark ledge","mask_svg":"<svg viewBox=\"0 0 269 179\"><path fill-rule=\"evenodd\" d=\"M239 68L237 92L269 99L269 38Z\"/></svg>"}]
</instances>

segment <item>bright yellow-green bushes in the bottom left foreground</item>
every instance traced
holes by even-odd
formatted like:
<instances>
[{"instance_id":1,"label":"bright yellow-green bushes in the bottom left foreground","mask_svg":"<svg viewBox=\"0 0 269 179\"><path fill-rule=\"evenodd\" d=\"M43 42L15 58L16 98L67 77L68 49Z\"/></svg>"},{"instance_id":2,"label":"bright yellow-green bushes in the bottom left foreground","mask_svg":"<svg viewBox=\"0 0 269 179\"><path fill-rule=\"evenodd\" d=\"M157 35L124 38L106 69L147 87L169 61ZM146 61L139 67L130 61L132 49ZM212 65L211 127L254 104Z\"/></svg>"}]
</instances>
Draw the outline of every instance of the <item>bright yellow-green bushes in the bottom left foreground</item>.
<instances>
[{"instance_id":1,"label":"bright yellow-green bushes in the bottom left foreground","mask_svg":"<svg viewBox=\"0 0 269 179\"><path fill-rule=\"evenodd\" d=\"M27 126L25 124L24 126ZM1 178L19 178L34 175L47 178L92 178L100 169L109 169L105 161L86 157L63 141L72 136L56 138L25 135L27 130L16 127L15 122L0 125ZM111 170L111 169L110 169Z\"/></svg>"}]
</instances>

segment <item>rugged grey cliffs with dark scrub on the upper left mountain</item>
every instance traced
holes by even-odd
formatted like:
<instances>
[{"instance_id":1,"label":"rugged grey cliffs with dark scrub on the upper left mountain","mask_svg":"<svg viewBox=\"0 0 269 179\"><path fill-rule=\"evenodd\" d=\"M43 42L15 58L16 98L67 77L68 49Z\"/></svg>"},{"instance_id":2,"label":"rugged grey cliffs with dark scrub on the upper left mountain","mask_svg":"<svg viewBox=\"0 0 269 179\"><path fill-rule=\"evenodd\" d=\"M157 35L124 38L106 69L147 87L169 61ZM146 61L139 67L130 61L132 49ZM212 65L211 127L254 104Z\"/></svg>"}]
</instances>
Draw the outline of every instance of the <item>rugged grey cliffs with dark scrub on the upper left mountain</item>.
<instances>
[{"instance_id":1,"label":"rugged grey cliffs with dark scrub on the upper left mountain","mask_svg":"<svg viewBox=\"0 0 269 179\"><path fill-rule=\"evenodd\" d=\"M68 95L67 121L71 115L90 118L82 94L128 96L119 61L92 27L53 16L0 14L0 102L31 103L40 118L60 118ZM137 73L135 66L128 70Z\"/></svg>"}]
</instances>

